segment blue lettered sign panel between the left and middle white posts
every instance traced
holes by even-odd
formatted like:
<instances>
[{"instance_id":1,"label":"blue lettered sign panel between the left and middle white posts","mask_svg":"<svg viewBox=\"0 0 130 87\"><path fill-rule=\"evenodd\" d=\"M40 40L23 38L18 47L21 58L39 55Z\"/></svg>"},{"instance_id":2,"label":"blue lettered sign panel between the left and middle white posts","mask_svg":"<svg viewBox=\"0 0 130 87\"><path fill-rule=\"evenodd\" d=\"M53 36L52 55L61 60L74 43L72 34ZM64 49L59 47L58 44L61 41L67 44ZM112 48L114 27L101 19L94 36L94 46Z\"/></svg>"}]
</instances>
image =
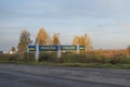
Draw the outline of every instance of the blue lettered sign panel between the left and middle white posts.
<instances>
[{"instance_id":1,"label":"blue lettered sign panel between the left and middle white posts","mask_svg":"<svg viewBox=\"0 0 130 87\"><path fill-rule=\"evenodd\" d=\"M39 51L57 51L57 46L39 46Z\"/></svg>"}]
</instances>

